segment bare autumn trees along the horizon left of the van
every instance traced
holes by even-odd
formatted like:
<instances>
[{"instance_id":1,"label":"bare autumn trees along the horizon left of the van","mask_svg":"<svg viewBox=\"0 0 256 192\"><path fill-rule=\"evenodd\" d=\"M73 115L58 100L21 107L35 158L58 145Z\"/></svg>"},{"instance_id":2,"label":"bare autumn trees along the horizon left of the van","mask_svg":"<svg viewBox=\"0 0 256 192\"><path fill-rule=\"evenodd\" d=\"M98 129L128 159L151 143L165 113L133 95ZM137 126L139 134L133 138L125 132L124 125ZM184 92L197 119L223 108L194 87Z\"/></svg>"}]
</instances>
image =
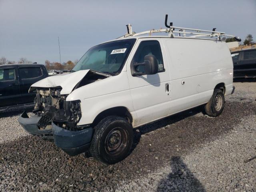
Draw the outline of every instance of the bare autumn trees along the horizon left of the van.
<instances>
[{"instance_id":1,"label":"bare autumn trees along the horizon left of the van","mask_svg":"<svg viewBox=\"0 0 256 192\"><path fill-rule=\"evenodd\" d=\"M78 62L78 60L74 60L74 62L72 62L71 60L68 60L67 62L62 62L62 64L58 63L58 62L50 62L49 60L45 60L44 64L46 66L47 70L72 70L72 68L74 68L74 66L76 65L76 63ZM6 57L1 57L0 58L0 65L5 65L5 64L32 64L32 61L28 60L27 58L20 58L20 60L16 61L10 61L7 60Z\"/></svg>"}]
</instances>

